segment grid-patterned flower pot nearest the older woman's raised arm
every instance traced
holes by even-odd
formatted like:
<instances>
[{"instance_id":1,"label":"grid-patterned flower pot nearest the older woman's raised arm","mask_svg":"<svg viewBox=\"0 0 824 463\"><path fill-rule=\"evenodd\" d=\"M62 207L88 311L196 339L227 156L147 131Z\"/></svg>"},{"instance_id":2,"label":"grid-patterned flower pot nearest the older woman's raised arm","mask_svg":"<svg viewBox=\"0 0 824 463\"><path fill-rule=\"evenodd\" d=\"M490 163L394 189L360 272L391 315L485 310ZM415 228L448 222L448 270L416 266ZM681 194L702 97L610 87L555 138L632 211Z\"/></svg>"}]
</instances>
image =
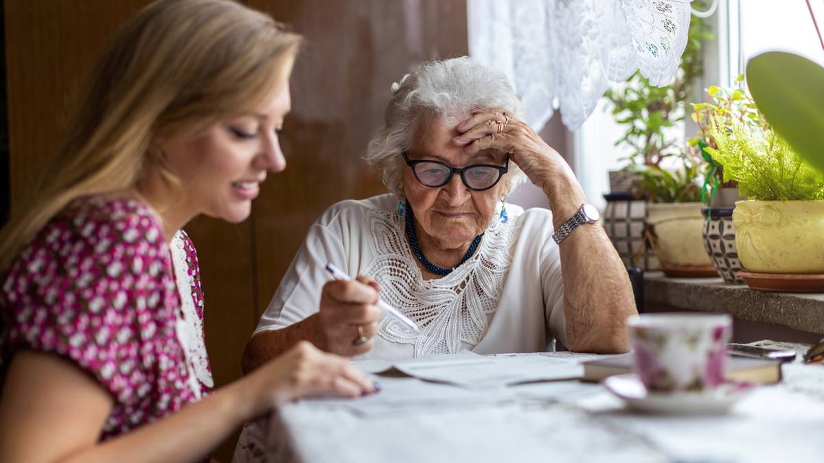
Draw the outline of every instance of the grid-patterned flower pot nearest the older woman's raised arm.
<instances>
[{"instance_id":1,"label":"grid-patterned flower pot nearest the older woman's raised arm","mask_svg":"<svg viewBox=\"0 0 824 463\"><path fill-rule=\"evenodd\" d=\"M647 202L629 194L604 194L604 229L627 267L658 270L658 257L644 240Z\"/></svg>"}]
</instances>

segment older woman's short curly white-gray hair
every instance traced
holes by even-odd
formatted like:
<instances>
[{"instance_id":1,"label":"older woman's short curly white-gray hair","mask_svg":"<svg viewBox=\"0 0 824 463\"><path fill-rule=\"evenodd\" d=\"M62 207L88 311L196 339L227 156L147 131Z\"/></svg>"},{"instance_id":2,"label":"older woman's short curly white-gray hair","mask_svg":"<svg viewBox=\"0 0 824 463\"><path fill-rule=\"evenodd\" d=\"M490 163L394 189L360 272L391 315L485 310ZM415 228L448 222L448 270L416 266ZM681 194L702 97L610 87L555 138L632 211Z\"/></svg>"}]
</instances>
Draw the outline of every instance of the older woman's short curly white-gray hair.
<instances>
[{"instance_id":1,"label":"older woman's short curly white-gray hair","mask_svg":"<svg viewBox=\"0 0 824 463\"><path fill-rule=\"evenodd\" d=\"M369 142L364 159L381 175L383 185L401 198L401 152L408 150L412 136L423 118L443 119L457 124L457 118L473 108L496 108L521 117L521 100L503 72L488 68L474 59L429 61L400 82L392 84L392 99L384 112L384 128ZM507 191L527 180L527 175L509 163Z\"/></svg>"}]
</instances>

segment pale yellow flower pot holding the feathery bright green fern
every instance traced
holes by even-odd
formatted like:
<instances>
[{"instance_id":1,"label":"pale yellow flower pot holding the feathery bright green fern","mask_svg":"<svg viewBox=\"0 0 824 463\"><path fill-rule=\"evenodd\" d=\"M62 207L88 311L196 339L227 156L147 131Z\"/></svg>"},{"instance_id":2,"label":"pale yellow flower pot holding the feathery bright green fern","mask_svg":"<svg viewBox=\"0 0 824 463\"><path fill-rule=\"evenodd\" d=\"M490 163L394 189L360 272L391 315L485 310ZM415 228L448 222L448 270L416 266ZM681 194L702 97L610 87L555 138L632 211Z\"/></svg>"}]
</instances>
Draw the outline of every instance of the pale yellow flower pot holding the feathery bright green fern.
<instances>
[{"instance_id":1,"label":"pale yellow flower pot holding the feathery bright green fern","mask_svg":"<svg viewBox=\"0 0 824 463\"><path fill-rule=\"evenodd\" d=\"M744 269L824 274L824 201L737 201L733 225Z\"/></svg>"}]
</instances>

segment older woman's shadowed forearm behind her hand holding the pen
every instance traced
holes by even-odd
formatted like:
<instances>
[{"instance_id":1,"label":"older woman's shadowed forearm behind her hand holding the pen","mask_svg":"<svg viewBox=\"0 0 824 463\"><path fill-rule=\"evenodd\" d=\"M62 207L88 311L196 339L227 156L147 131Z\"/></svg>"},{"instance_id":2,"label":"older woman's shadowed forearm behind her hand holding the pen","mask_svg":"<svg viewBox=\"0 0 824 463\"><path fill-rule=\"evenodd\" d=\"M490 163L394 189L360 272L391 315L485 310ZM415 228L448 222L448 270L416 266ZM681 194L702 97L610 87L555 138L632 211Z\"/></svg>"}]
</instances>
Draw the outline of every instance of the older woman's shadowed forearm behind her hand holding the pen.
<instances>
[{"instance_id":1,"label":"older woman's shadowed forearm behind her hand holding the pen","mask_svg":"<svg viewBox=\"0 0 824 463\"><path fill-rule=\"evenodd\" d=\"M302 340L307 340L328 352L325 338L319 324L318 314L308 316L293 325L286 326L279 330L265 330L252 336L246 343L241 358L241 369L244 375L255 371L256 368L268 362L272 358L292 348Z\"/></svg>"}]
</instances>

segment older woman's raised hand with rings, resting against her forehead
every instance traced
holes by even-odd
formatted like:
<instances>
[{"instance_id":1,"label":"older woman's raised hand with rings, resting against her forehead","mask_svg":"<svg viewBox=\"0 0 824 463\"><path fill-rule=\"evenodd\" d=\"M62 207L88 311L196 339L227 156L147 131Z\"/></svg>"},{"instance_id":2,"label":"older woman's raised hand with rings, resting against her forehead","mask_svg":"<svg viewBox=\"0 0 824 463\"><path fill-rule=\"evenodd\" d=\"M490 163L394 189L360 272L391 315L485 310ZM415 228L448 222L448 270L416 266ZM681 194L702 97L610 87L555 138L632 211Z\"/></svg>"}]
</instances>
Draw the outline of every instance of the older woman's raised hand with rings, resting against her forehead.
<instances>
[{"instance_id":1,"label":"older woman's raised hand with rings, resting against her forehead","mask_svg":"<svg viewBox=\"0 0 824 463\"><path fill-rule=\"evenodd\" d=\"M544 142L528 124L501 109L473 111L469 119L456 126L461 135L452 143L475 154L485 149L508 152L532 183L546 189L559 175L574 178L572 170L558 152Z\"/></svg>"}]
</instances>

